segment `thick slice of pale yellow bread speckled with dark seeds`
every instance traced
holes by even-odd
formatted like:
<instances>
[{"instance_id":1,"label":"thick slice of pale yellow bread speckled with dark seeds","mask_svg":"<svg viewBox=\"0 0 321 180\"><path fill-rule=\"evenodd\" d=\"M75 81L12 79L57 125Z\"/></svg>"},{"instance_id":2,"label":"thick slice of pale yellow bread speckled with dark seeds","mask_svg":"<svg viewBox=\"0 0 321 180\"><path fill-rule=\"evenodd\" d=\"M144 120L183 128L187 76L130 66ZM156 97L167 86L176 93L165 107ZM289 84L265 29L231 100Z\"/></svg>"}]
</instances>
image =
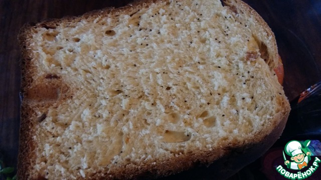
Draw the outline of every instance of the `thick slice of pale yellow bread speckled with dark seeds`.
<instances>
[{"instance_id":1,"label":"thick slice of pale yellow bread speckled with dark seeds","mask_svg":"<svg viewBox=\"0 0 321 180\"><path fill-rule=\"evenodd\" d=\"M20 179L213 162L197 176L226 178L275 142L290 110L273 32L240 0L137 1L29 24L19 39Z\"/></svg>"}]
</instances>

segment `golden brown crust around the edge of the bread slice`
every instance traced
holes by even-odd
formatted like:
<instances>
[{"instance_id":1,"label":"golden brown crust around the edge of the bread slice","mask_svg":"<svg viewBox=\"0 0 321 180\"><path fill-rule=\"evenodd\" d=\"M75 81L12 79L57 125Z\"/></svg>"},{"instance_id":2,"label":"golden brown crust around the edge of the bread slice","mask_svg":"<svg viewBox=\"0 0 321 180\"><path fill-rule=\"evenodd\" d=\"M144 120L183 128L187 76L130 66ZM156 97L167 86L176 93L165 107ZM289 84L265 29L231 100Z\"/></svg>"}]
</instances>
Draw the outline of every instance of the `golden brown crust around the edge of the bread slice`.
<instances>
[{"instance_id":1,"label":"golden brown crust around the edge of the bread slice","mask_svg":"<svg viewBox=\"0 0 321 180\"><path fill-rule=\"evenodd\" d=\"M162 0L140 0L128 4L127 6L121 8L106 8L103 10L96 10L88 12L79 17L65 17L63 19L51 19L48 21L40 22L35 25L26 25L19 35L19 40L21 42L23 61L22 61L22 91L24 95L28 96L26 93L28 87L31 85L33 79L33 67L30 63L33 58L26 49L28 44L29 34L33 26L45 27L45 28L55 28L56 23L65 23L68 25L74 21L81 19L93 18L98 15L104 16L117 16L119 13L134 13L137 9L142 6L148 6L149 3ZM254 14L254 17L261 26L264 27L265 31L272 37L270 43L266 44L269 48L269 60L267 63L271 63L270 67L277 65L277 46L273 32L268 27L266 22L262 19L258 13L253 10L250 6L244 3L241 0L228 0L228 5L233 3L236 7L236 11L239 10ZM231 6L232 7L232 6ZM232 8L232 11L235 11ZM237 172L240 168L255 160L257 157L262 155L280 136L288 116L289 104L287 99L283 96L281 99L283 107L281 111L275 114L273 122L269 125L267 129L264 129L260 133L254 135L254 139L248 139L245 141L234 141L228 147L216 148L211 151L198 151L193 153L187 153L184 155L179 155L171 160L159 160L158 163L153 166L147 166L143 164L130 164L126 168L116 168L116 170L105 169L105 171L93 173L90 179L128 179L128 178L156 178L159 176L166 176L173 173L181 172L191 167L198 167L199 165L206 166L211 164L213 165L209 168L196 168L191 171L179 174L178 177L195 177L198 179L215 177L217 178L226 178L229 175ZM35 122L36 114L34 114L33 109L29 106L26 100L22 103L22 113L21 113L21 134L20 134L20 153L19 153L19 164L18 164L18 176L20 179L28 179L32 174L30 173L31 164L33 164L33 146L36 145L32 139L33 134L33 125ZM223 165L222 165L223 164ZM214 169L214 170L212 170ZM201 172L201 173L195 173ZM215 172L215 173L213 173ZM197 175L196 175L197 174ZM36 175L37 176L37 175ZM176 177L176 176L174 176ZM39 177L40 178L40 177Z\"/></svg>"}]
</instances>

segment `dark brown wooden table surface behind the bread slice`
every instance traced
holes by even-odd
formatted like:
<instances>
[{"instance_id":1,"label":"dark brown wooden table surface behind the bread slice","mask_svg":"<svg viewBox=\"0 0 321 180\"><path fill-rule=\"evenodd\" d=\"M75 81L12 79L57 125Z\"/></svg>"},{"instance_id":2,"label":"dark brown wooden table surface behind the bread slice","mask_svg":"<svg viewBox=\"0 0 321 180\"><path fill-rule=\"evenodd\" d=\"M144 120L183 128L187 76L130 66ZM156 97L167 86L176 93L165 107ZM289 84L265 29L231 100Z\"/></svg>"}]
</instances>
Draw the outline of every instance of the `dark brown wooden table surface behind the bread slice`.
<instances>
[{"instance_id":1,"label":"dark brown wooden table surface behind the bread slice","mask_svg":"<svg viewBox=\"0 0 321 180\"><path fill-rule=\"evenodd\" d=\"M321 1L244 0L275 33L284 64L284 90L289 100L321 80ZM129 0L0 0L0 153L16 167L20 123L20 49L24 23L80 15ZM1 179L1 178L0 178Z\"/></svg>"}]
</instances>

